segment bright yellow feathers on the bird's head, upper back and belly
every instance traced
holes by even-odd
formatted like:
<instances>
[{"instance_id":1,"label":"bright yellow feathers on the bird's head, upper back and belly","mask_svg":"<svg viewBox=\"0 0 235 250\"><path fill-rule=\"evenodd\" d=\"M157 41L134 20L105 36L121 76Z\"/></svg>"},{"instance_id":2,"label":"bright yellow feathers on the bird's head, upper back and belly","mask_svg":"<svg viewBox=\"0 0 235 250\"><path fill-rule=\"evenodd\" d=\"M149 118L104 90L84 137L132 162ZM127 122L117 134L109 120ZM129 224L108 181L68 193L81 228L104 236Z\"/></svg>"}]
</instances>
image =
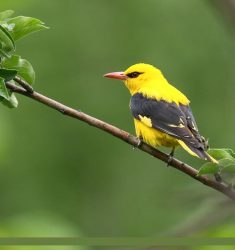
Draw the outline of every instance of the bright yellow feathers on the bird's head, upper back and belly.
<instances>
[{"instance_id":1,"label":"bright yellow feathers on the bird's head, upper back and belly","mask_svg":"<svg viewBox=\"0 0 235 250\"><path fill-rule=\"evenodd\" d=\"M138 77L138 80L133 78L124 81L131 95L139 92L147 98L165 100L166 102L172 102L172 100L174 100L177 104L189 104L187 97L170 85L161 71L152 65L144 63L135 64L129 67L124 73L128 75L131 72L148 72L148 74L143 77ZM136 135L140 138L142 137L143 141L153 147L175 147L179 144L178 140L172 136L156 130L152 128L152 126L147 126L142 119L140 119L140 121L134 119L134 123Z\"/></svg>"}]
</instances>

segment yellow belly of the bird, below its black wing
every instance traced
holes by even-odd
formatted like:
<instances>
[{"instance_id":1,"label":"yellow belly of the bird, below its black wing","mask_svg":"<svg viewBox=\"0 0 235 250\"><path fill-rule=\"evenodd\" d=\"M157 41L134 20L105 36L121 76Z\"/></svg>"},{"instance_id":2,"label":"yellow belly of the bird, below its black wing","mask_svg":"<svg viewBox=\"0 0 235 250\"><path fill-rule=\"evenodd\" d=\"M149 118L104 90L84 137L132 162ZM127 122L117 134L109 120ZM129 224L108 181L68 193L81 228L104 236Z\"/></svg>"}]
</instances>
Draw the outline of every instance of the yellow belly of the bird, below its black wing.
<instances>
[{"instance_id":1,"label":"yellow belly of the bird, below its black wing","mask_svg":"<svg viewBox=\"0 0 235 250\"><path fill-rule=\"evenodd\" d=\"M178 141L166 133L163 133L155 128L146 126L139 120L134 119L135 131L138 137L141 137L144 142L152 147L165 146L175 147L179 145Z\"/></svg>"}]
</instances>

